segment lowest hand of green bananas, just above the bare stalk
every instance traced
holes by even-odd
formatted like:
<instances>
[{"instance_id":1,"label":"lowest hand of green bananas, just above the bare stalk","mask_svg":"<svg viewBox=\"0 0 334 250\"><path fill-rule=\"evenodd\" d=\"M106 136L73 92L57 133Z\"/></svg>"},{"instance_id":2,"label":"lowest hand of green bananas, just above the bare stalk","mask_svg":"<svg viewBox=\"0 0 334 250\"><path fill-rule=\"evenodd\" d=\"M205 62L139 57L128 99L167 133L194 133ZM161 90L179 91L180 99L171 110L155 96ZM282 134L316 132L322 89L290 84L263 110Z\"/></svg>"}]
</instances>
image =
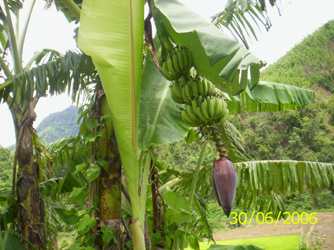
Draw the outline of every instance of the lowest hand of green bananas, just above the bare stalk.
<instances>
[{"instance_id":1,"label":"lowest hand of green bananas, just above the bare stalk","mask_svg":"<svg viewBox=\"0 0 334 250\"><path fill-rule=\"evenodd\" d=\"M219 97L200 97L192 100L181 112L181 119L192 127L219 122L228 114L226 102Z\"/></svg>"}]
</instances>

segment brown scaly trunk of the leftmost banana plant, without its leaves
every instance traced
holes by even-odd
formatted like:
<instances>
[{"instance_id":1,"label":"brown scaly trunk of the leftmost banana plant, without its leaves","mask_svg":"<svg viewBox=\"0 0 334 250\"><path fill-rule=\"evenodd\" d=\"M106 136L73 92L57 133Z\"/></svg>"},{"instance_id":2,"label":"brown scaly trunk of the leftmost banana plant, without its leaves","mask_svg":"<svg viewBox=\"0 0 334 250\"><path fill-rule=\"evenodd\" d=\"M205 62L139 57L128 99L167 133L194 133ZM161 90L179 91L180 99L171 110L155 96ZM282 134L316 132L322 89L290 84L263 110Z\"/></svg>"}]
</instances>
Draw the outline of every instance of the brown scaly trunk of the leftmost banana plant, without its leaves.
<instances>
[{"instance_id":1,"label":"brown scaly trunk of the leftmost banana plant, without its leaves","mask_svg":"<svg viewBox=\"0 0 334 250\"><path fill-rule=\"evenodd\" d=\"M16 160L18 165L16 194L17 222L21 240L26 249L45 249L44 205L39 190L39 165L34 159L35 101L18 117L16 124Z\"/></svg>"}]
</instances>

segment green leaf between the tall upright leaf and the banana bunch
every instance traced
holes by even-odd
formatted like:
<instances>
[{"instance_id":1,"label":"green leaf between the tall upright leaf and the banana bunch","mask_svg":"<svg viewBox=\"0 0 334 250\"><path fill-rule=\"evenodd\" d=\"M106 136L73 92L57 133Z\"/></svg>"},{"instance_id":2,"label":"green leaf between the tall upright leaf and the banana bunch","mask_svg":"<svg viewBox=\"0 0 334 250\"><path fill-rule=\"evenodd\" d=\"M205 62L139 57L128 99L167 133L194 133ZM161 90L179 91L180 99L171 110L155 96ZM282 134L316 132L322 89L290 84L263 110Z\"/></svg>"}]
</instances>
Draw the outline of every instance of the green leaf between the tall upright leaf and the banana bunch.
<instances>
[{"instance_id":1,"label":"green leaf between the tall upright leaf and the banana bunch","mask_svg":"<svg viewBox=\"0 0 334 250\"><path fill-rule=\"evenodd\" d=\"M139 145L153 145L182 140L187 126L180 120L180 105L171 98L169 82L150 58L146 59L141 91Z\"/></svg>"}]
</instances>

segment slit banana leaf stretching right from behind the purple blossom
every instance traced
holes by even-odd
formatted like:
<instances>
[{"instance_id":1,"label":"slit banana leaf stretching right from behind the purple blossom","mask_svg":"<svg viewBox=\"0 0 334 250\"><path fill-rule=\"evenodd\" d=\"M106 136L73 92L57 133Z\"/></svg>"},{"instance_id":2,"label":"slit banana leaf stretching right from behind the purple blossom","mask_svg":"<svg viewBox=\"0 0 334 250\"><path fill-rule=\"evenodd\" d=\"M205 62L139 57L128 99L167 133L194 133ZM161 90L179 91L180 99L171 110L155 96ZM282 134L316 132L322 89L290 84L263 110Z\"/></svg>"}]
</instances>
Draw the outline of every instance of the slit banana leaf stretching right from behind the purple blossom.
<instances>
[{"instance_id":1,"label":"slit banana leaf stretching right from behind the purple blossom","mask_svg":"<svg viewBox=\"0 0 334 250\"><path fill-rule=\"evenodd\" d=\"M242 209L284 211L283 198L321 190L334 183L334 163L292 160L248 161L234 164L238 172L237 206Z\"/></svg>"}]
</instances>

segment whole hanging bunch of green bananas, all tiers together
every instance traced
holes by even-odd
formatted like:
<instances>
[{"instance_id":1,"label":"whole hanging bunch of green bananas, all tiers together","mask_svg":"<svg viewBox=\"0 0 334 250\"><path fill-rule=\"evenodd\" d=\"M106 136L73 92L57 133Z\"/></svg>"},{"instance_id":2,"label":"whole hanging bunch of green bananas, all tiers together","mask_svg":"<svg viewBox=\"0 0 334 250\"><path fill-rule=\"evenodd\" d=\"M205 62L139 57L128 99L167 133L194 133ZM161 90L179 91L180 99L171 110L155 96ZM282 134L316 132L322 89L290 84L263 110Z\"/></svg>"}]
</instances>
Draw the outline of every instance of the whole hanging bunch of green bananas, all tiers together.
<instances>
[{"instance_id":1,"label":"whole hanging bunch of green bananas, all tiers together","mask_svg":"<svg viewBox=\"0 0 334 250\"><path fill-rule=\"evenodd\" d=\"M170 48L161 62L163 75L172 81L173 100L185 104L181 119L193 127L217 123L228 113L224 98L213 83L198 75L192 76L191 67L190 52L180 46Z\"/></svg>"}]
</instances>

